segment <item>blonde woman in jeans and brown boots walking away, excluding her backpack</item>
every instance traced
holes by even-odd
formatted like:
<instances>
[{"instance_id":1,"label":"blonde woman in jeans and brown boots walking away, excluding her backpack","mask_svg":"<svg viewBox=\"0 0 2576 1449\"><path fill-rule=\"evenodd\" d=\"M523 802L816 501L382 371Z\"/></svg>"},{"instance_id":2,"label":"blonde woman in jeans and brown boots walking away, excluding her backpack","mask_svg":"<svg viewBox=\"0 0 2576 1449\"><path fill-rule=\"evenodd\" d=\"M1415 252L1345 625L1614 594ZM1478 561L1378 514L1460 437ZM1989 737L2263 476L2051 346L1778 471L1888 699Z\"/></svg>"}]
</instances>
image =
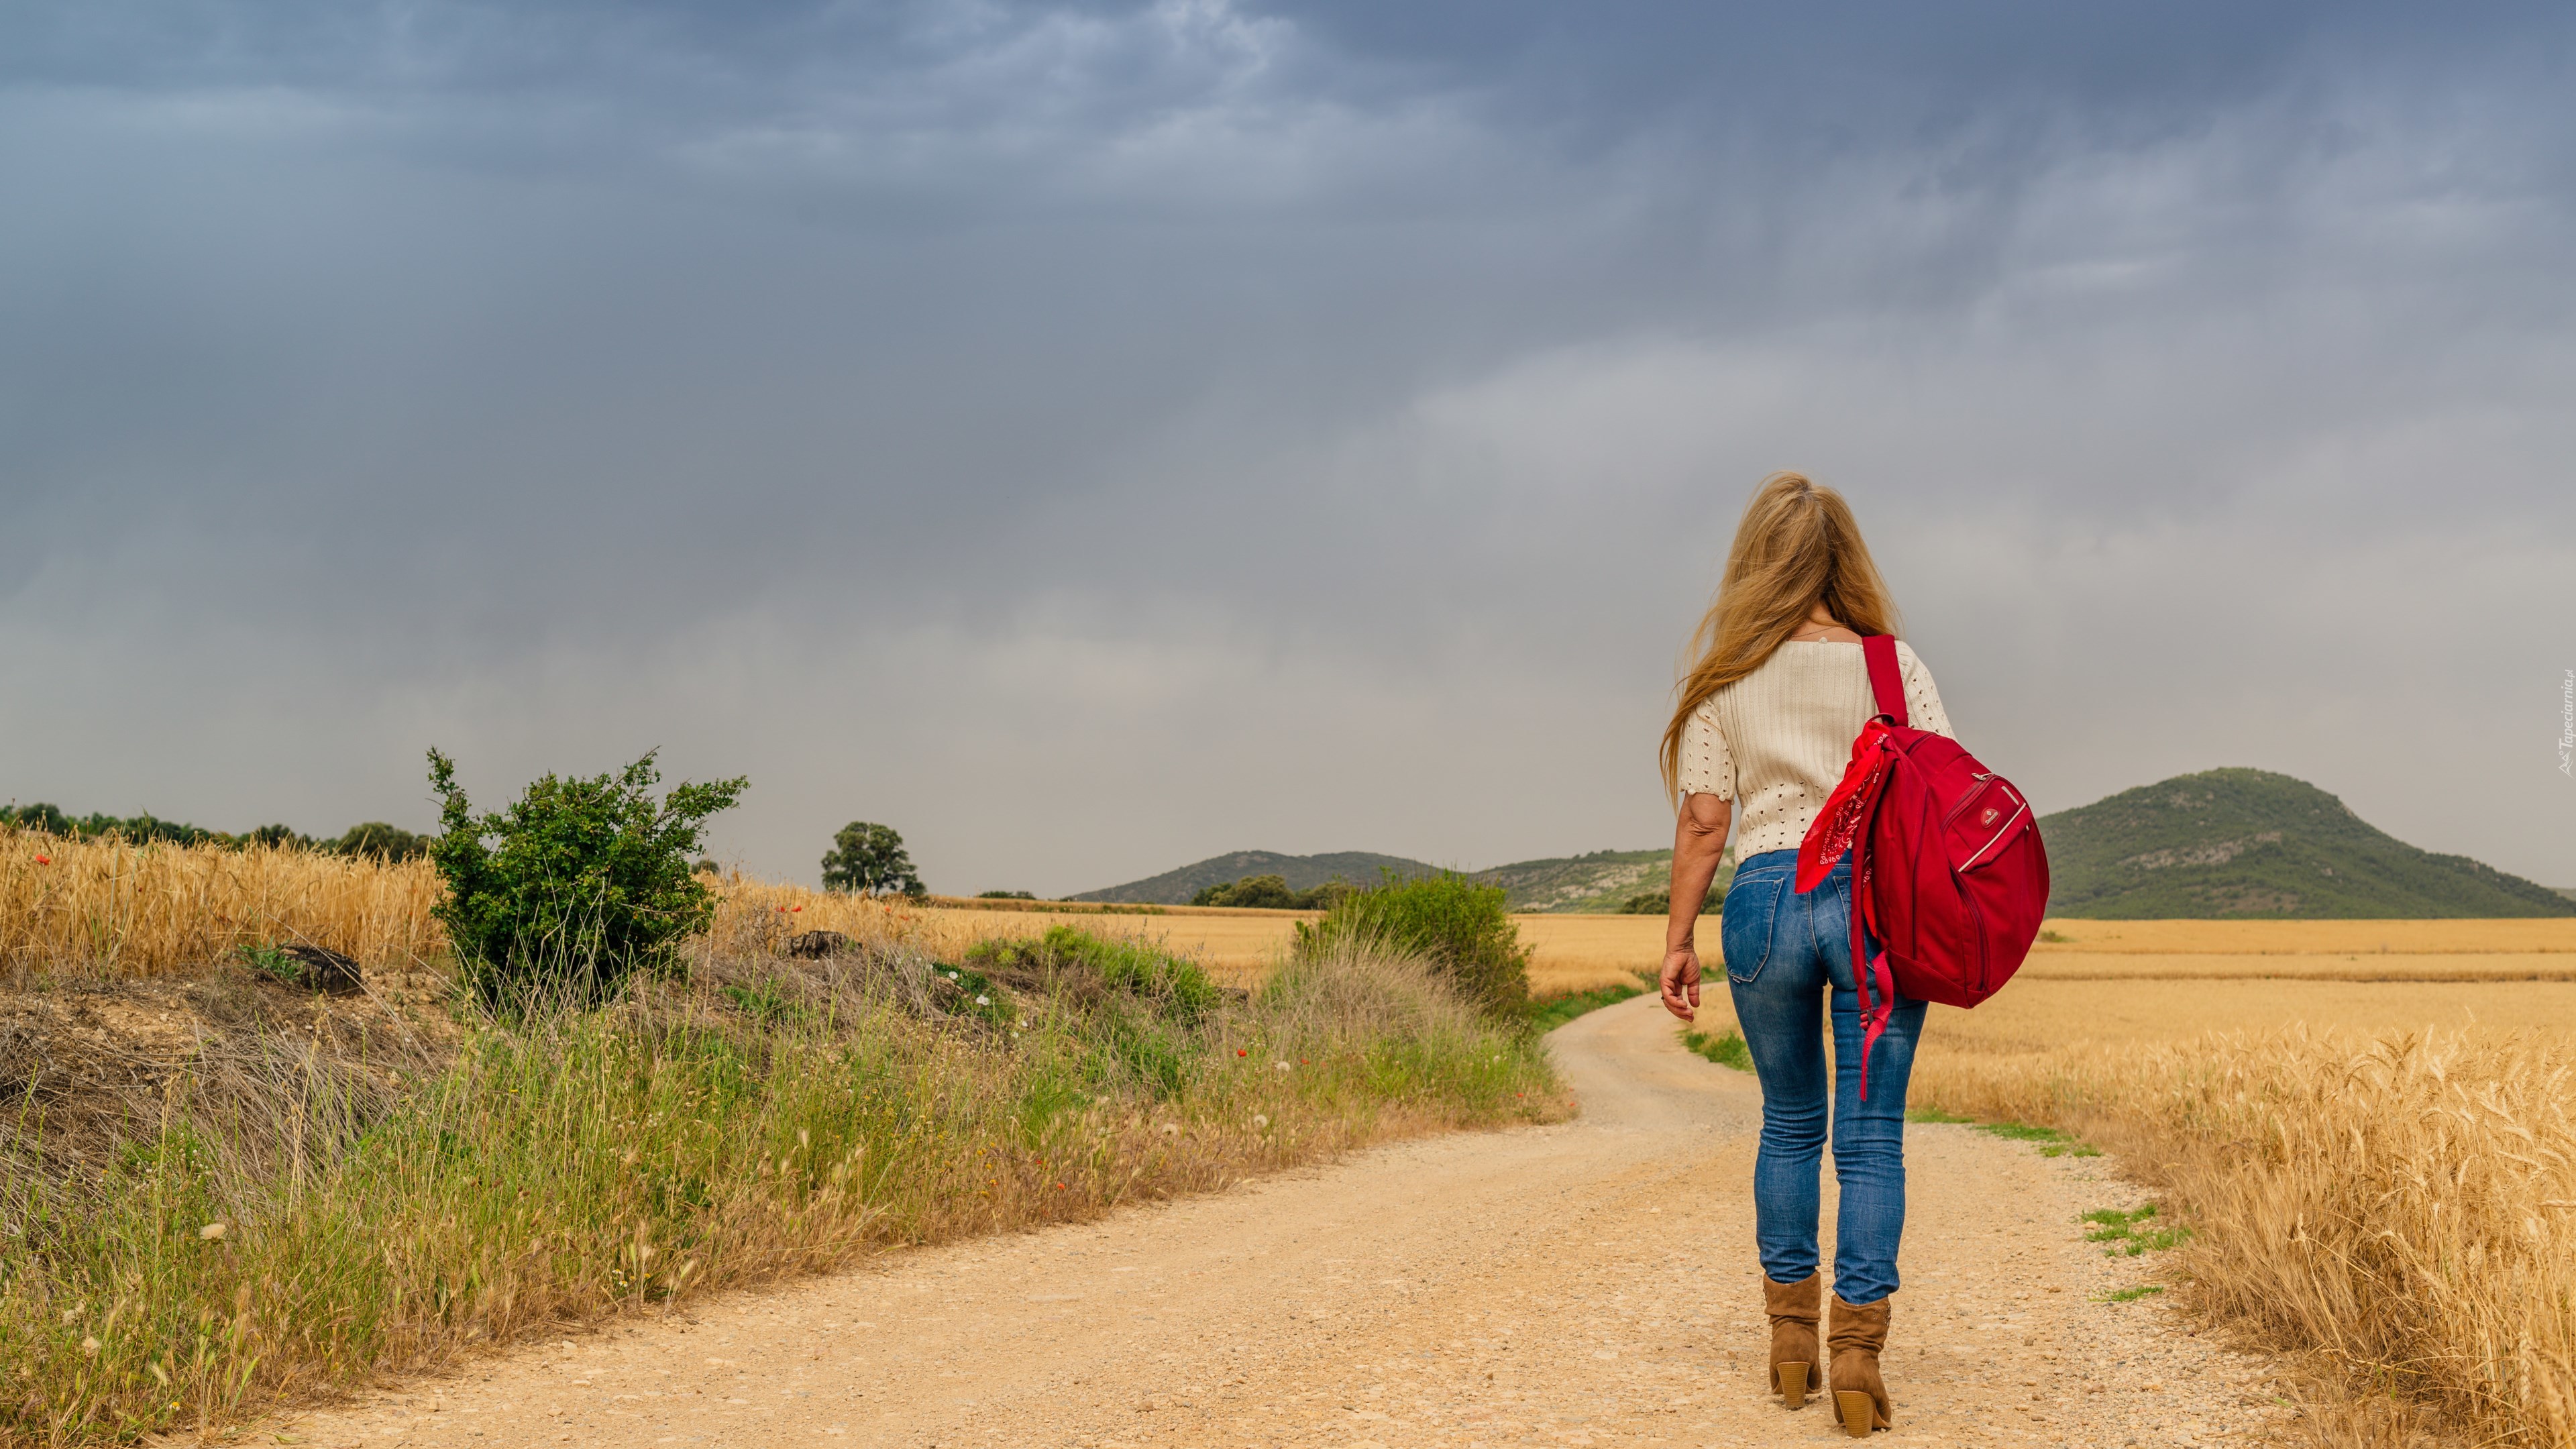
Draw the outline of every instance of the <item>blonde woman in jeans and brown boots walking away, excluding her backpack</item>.
<instances>
[{"instance_id":1,"label":"blonde woman in jeans and brown boots walking away, excluding her backpack","mask_svg":"<svg viewBox=\"0 0 2576 1449\"><path fill-rule=\"evenodd\" d=\"M1870 1049L1862 1101L1852 859L1844 853L1806 895L1793 877L1798 841L1875 714L1860 637L1893 632L1896 606L1850 505L1832 487L1775 472L1744 508L1718 601L1692 639L1698 663L1664 727L1664 789L1680 799L1664 1008L1690 1021L1700 1006L1692 928L1734 825L1736 879L1726 887L1718 936L1726 990L1762 1080L1754 1240L1772 1325L1770 1387L1788 1408L1801 1408L1819 1361L1816 1173L1832 1122L1842 1212L1826 1387L1852 1436L1893 1423L1878 1351L1888 1341L1896 1243L1906 1225L1906 1078L1924 1003L1896 1006ZM1914 727L1947 735L1929 670L1904 645L1896 657Z\"/></svg>"}]
</instances>

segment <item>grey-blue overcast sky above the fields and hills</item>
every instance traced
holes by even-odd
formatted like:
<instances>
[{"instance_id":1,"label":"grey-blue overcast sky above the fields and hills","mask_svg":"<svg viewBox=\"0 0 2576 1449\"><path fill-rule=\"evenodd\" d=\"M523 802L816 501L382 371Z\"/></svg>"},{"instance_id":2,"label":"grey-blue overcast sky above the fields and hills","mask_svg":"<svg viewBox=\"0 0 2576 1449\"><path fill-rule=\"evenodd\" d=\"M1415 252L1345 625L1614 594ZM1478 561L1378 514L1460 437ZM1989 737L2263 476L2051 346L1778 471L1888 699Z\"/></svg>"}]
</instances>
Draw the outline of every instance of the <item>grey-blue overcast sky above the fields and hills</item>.
<instances>
[{"instance_id":1,"label":"grey-blue overcast sky above the fields and hills","mask_svg":"<svg viewBox=\"0 0 2576 1449\"><path fill-rule=\"evenodd\" d=\"M2576 10L0 8L0 799L933 890L1669 838L1842 487L2048 810L2576 884Z\"/></svg>"}]
</instances>

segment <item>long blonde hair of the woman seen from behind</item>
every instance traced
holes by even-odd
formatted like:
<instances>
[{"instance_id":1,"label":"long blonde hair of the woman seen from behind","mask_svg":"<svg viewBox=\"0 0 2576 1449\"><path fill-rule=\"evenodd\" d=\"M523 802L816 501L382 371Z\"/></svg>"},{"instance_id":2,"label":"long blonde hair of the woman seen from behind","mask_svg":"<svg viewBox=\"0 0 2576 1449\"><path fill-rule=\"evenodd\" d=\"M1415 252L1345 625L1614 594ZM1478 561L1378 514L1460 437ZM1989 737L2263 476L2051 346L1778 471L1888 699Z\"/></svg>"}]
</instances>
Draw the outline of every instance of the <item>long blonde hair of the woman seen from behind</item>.
<instances>
[{"instance_id":1,"label":"long blonde hair of the woman seen from behind","mask_svg":"<svg viewBox=\"0 0 2576 1449\"><path fill-rule=\"evenodd\" d=\"M1672 724L1664 724L1664 794L1682 797L1690 717L1708 696L1762 668L1819 603L1860 634L1896 632L1896 601L1860 541L1852 505L1803 472L1775 472L1744 505L1718 598L1690 637L1698 663L1674 686Z\"/></svg>"}]
</instances>

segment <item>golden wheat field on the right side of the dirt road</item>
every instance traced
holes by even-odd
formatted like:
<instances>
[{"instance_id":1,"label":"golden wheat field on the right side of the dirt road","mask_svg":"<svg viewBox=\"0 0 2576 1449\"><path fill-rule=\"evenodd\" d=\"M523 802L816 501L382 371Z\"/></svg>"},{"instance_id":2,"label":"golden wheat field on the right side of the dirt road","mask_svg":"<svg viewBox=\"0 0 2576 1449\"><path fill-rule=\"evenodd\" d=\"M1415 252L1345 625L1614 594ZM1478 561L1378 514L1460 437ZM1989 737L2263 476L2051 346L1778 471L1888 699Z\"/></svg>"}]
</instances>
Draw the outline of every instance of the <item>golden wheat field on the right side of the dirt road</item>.
<instances>
[{"instance_id":1,"label":"golden wheat field on the right side of the dirt road","mask_svg":"<svg viewBox=\"0 0 2576 1449\"><path fill-rule=\"evenodd\" d=\"M1914 1106L2120 1152L2195 1230L2174 1289L2313 1372L2321 1441L2576 1444L2576 920L2050 933L1932 1008Z\"/></svg>"}]
</instances>

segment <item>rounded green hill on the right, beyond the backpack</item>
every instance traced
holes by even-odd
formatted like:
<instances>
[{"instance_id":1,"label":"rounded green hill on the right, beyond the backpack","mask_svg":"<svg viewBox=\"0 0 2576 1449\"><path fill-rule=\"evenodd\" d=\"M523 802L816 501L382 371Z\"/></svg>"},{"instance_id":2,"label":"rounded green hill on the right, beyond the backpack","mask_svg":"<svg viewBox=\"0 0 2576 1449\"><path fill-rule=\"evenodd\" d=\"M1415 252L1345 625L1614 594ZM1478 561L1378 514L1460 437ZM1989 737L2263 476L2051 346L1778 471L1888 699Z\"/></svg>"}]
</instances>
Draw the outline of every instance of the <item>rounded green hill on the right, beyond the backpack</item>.
<instances>
[{"instance_id":1,"label":"rounded green hill on the right, beyond the backpack","mask_svg":"<svg viewBox=\"0 0 2576 1449\"><path fill-rule=\"evenodd\" d=\"M2050 915L2576 915L2576 900L2370 828L2269 771L2202 771L2040 817Z\"/></svg>"}]
</instances>

